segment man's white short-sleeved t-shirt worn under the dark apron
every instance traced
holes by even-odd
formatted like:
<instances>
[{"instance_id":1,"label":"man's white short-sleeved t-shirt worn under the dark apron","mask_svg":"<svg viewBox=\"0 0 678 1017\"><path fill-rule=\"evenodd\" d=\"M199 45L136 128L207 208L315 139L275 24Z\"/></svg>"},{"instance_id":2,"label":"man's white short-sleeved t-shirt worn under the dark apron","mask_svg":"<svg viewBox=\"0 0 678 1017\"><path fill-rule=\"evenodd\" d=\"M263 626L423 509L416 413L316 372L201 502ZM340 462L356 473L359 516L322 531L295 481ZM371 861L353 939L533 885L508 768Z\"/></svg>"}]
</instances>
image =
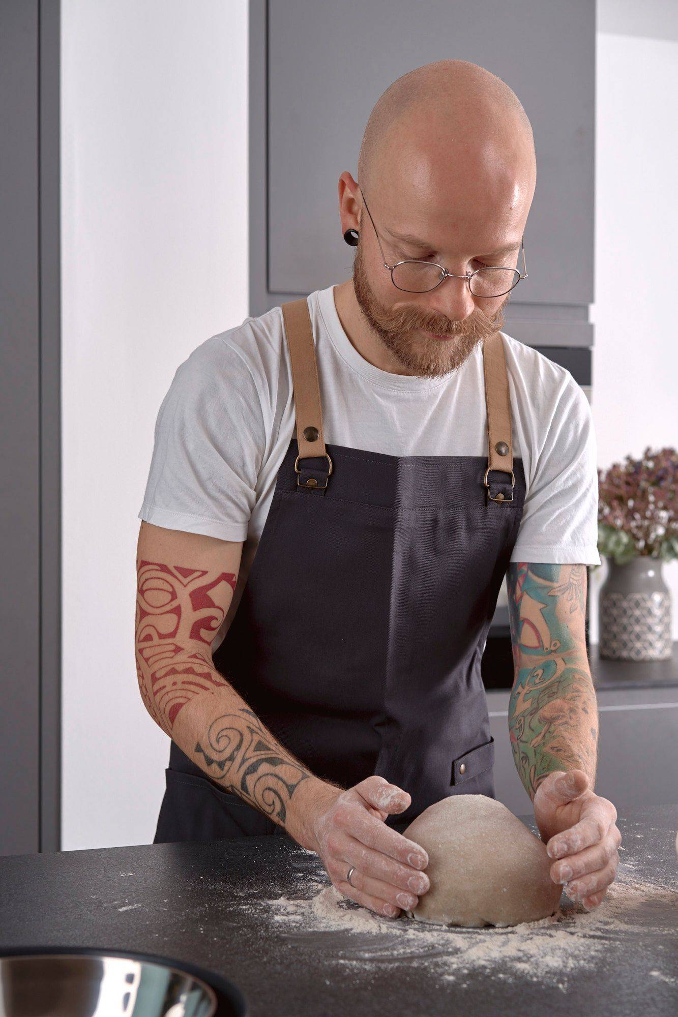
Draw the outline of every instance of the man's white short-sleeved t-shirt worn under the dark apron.
<instances>
[{"instance_id":1,"label":"man's white short-sleeved t-shirt worn under the dark apron","mask_svg":"<svg viewBox=\"0 0 678 1017\"><path fill-rule=\"evenodd\" d=\"M339 320L334 287L309 294L307 302L326 442L390 456L487 457L479 343L446 377L393 374L369 363L351 345ZM566 368L503 336L513 455L522 458L526 482L511 561L600 564L597 448L588 401ZM295 434L279 306L196 347L177 368L160 407L138 518L243 541L232 608Z\"/></svg>"}]
</instances>

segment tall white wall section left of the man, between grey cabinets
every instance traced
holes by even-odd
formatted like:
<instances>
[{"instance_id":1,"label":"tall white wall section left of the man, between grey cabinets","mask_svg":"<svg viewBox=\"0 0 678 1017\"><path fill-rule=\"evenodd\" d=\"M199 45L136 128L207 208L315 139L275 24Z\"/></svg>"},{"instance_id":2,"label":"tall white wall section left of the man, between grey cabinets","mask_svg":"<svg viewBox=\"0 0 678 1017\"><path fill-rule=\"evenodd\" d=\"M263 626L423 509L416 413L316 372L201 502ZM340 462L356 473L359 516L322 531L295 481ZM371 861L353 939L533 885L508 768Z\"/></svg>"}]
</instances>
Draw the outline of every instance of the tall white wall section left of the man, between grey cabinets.
<instances>
[{"instance_id":1,"label":"tall white wall section left of the man, between grey cabinets","mask_svg":"<svg viewBox=\"0 0 678 1017\"><path fill-rule=\"evenodd\" d=\"M158 408L247 293L246 0L62 0L64 849L150 843L169 739L134 670Z\"/></svg>"}]
</instances>

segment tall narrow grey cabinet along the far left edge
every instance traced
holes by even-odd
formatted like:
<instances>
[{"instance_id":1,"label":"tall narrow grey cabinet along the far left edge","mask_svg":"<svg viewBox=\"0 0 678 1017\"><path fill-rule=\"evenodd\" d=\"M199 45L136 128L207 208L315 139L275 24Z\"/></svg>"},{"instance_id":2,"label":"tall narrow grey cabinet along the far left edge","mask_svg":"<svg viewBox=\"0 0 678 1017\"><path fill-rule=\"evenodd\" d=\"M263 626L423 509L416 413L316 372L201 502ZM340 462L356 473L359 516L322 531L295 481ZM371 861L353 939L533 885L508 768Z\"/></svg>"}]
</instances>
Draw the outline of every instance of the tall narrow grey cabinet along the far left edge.
<instances>
[{"instance_id":1,"label":"tall narrow grey cabinet along the far left edge","mask_svg":"<svg viewBox=\"0 0 678 1017\"><path fill-rule=\"evenodd\" d=\"M0 3L0 855L59 846L60 5Z\"/></svg>"}]
</instances>

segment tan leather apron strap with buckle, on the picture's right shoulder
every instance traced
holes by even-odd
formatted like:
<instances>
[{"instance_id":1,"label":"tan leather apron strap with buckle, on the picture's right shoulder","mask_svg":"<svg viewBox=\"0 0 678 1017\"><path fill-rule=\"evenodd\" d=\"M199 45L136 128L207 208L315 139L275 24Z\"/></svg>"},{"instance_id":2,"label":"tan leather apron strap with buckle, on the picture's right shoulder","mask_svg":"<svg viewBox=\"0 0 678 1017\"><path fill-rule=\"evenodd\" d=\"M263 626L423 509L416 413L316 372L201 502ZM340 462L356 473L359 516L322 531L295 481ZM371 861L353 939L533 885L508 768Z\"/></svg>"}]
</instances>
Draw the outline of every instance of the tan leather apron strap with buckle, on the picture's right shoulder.
<instances>
[{"instance_id":1,"label":"tan leather apron strap with buckle, on the picture's right shoulder","mask_svg":"<svg viewBox=\"0 0 678 1017\"><path fill-rule=\"evenodd\" d=\"M511 444L511 401L509 398L504 339L501 333L493 333L483 341L483 363L485 370L485 400L488 408L488 468L485 471L485 486L488 497L498 503L513 500L513 446ZM506 477L489 479L491 471L500 470L510 475L511 489L508 490ZM502 490L496 491L497 487ZM493 495L493 489L496 495Z\"/></svg>"}]
</instances>

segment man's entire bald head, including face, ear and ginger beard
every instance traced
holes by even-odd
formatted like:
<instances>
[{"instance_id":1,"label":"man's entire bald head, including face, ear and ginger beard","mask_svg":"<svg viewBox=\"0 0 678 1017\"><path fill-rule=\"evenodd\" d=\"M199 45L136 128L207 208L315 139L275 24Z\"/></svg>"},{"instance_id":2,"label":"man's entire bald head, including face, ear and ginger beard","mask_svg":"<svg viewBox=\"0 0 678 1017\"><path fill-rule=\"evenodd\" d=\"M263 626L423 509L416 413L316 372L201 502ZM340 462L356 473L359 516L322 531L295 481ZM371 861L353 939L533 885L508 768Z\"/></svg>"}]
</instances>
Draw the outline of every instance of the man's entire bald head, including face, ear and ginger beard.
<instances>
[{"instance_id":1,"label":"man's entire bald head, including face, ear and ginger beard","mask_svg":"<svg viewBox=\"0 0 678 1017\"><path fill-rule=\"evenodd\" d=\"M353 278L335 287L347 335L387 370L431 376L459 368L502 328L514 292L482 296L467 277L484 265L509 268L508 277L492 278L515 284L536 182L525 111L477 64L417 67L370 114L357 177L339 177L342 234L358 231ZM399 289L385 270L412 259L444 265L455 278L430 290Z\"/></svg>"}]
</instances>

